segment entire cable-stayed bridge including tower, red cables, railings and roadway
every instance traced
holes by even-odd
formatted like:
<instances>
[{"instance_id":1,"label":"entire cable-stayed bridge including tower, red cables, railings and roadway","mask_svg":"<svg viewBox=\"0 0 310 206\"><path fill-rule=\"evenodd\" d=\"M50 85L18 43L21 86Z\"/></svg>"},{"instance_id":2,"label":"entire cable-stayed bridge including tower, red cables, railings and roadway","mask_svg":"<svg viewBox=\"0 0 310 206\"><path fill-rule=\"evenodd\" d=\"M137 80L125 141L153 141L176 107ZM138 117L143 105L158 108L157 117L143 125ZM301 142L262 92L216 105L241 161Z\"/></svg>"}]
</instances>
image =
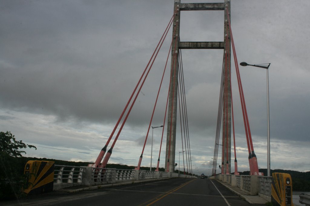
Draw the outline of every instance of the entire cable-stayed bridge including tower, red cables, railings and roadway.
<instances>
[{"instance_id":1,"label":"entire cable-stayed bridge including tower, red cables, railings and roadway","mask_svg":"<svg viewBox=\"0 0 310 206\"><path fill-rule=\"evenodd\" d=\"M183 42L180 38L180 15L183 11L224 11L224 37L222 42ZM172 32L172 37L168 33ZM135 102L141 94L144 83L148 80L148 74L157 59L158 53L162 49L164 43L170 44L166 56L166 64L162 69L162 78L158 82L158 91L152 114L148 123L147 133L145 135L144 144L141 155L137 157L137 166L133 170L111 169L107 168L108 161L113 156L115 145L120 137L122 129L131 113ZM184 81L184 68L182 62L182 50L193 49L217 49L223 50L223 61L221 70L221 78L218 80L220 85L219 104L216 125L216 134L214 141L214 155L212 167L212 179L198 179L199 176L193 176L193 165L190 147L190 128L188 124L187 101ZM165 51L164 51L165 52ZM231 57L233 59L231 59ZM241 177L237 169L237 153L235 142L234 128L234 109L232 102L232 67L233 62L236 76L237 89L239 90L242 116L245 130L245 140L248 148L248 160L250 176ZM168 63L170 63L170 70ZM55 165L54 185L60 188L69 186L87 186L83 188L69 189L71 191L88 191L84 195L71 195L64 198L58 198L56 203L49 200L49 204L57 205L63 203L77 204L81 201L87 204L91 201L101 202L102 195L104 201L112 205L123 204L125 199L130 205L249 205L243 199L242 195L258 195L266 196L264 200L260 199L256 203L264 203L270 201L271 196L271 177L263 177L263 173L259 172L258 158L255 155L254 144L252 141L250 122L246 110L246 102L243 93L237 54L232 35L232 26L230 22L230 1L224 0L222 3L181 3L180 0L174 1L174 10L171 19L167 21L166 29L155 46L153 54L143 70L139 81L128 99L121 115L116 122L107 142L103 144L103 148L93 164L88 167L71 167L65 165ZM269 65L268 65L269 66ZM162 87L165 75L169 75L168 88ZM161 128L161 142L155 171L141 170L143 164L144 150L150 129L152 125L157 101L160 93L166 94L166 107L163 114ZM181 137L176 138L177 129L180 131ZM153 135L152 135L153 136ZM231 138L231 136L233 138ZM114 139L113 139L114 138ZM112 141L113 139L113 141ZM176 141L181 141L182 161L184 168L181 174L174 173L176 166L175 153ZM232 147L233 144L233 147ZM222 146L222 147L219 147ZM234 172L231 171L231 148L233 148L233 164ZM165 152L164 152L165 151ZM163 158L161 155L165 155ZM164 161L165 171L159 171L159 164ZM152 164L152 163L151 163ZM219 164L219 170L217 165ZM56 169L57 168L57 169ZM181 179L168 179L173 177L181 177ZM185 179L184 179L185 178ZM191 179L187 179L191 178ZM166 180L151 183L145 181ZM224 184L220 184L215 179L221 180ZM66 181L64 183L64 181ZM132 182L137 183L135 186L125 186ZM226 186L225 186L226 184ZM287 183L289 184L289 183ZM99 192L91 192L91 188L99 189L106 186L117 186L112 189L104 189ZM91 187L92 186L92 187ZM86 188L86 189L85 189ZM238 189L239 188L239 189ZM233 191L233 192L232 192ZM237 194L237 195L236 195ZM120 196L121 195L121 196ZM122 197L122 198L119 198ZM131 197L131 198L129 198ZM139 197L139 198L136 198ZM240 198L242 197L242 198ZM195 198L195 202L193 202ZM197 198L197 199L196 199ZM97 200L98 199L98 200ZM196 202L197 200L197 202ZM93 204L95 202L92 202ZM248 201L249 202L249 201ZM42 201L46 204L47 201ZM251 202L251 203L255 203ZM39 203L41 204L41 203ZM255 205L255 204L254 204ZM259 204L257 204L259 205Z\"/></svg>"}]
</instances>

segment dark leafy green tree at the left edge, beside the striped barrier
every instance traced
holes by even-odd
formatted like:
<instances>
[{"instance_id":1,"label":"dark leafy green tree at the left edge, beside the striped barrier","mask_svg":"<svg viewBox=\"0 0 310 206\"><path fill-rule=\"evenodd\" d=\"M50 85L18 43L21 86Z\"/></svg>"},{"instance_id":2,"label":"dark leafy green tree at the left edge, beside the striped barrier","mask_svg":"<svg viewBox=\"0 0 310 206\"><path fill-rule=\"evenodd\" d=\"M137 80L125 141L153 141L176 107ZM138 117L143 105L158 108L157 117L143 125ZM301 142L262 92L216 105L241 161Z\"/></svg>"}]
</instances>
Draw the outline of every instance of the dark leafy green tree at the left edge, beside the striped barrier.
<instances>
[{"instance_id":1,"label":"dark leafy green tree at the left edge, beside the striped barrier","mask_svg":"<svg viewBox=\"0 0 310 206\"><path fill-rule=\"evenodd\" d=\"M18 157L26 154L21 149L35 148L15 139L11 132L0 132L0 199L20 198L23 196L27 177L18 168Z\"/></svg>"}]
</instances>

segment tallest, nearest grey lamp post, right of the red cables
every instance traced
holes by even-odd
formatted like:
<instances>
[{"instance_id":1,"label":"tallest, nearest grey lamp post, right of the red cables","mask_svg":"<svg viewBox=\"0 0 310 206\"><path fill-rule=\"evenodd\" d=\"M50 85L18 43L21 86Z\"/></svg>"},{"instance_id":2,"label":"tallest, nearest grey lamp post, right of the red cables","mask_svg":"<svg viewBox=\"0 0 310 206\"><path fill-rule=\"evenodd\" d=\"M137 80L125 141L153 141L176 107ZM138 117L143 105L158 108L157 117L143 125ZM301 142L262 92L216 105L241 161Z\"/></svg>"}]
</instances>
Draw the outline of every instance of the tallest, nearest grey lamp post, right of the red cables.
<instances>
[{"instance_id":1,"label":"tallest, nearest grey lamp post, right of the red cables","mask_svg":"<svg viewBox=\"0 0 310 206\"><path fill-rule=\"evenodd\" d=\"M241 62L241 66L253 66L264 68L267 71L267 176L270 176L270 122L269 122L269 79L268 79L268 68L270 63L267 64L248 64Z\"/></svg>"}]
</instances>

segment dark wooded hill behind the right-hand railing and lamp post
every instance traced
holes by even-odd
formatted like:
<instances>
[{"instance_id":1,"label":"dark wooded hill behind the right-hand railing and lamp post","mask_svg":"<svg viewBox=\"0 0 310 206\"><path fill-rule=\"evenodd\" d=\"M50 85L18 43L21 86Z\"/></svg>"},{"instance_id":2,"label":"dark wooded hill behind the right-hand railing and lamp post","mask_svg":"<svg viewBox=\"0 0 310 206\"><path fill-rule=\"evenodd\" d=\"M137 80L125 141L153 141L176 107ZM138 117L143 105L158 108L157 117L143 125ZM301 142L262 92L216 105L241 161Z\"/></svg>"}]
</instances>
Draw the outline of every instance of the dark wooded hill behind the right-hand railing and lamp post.
<instances>
[{"instance_id":1,"label":"dark wooded hill behind the right-hand railing and lamp post","mask_svg":"<svg viewBox=\"0 0 310 206\"><path fill-rule=\"evenodd\" d=\"M259 169L259 172L267 175L267 169ZM284 170L284 169L271 169L271 173L280 172L288 173L292 178L293 191L310 191L310 171L309 172L298 172L294 170ZM250 171L240 172L240 175L249 175Z\"/></svg>"}]
</instances>

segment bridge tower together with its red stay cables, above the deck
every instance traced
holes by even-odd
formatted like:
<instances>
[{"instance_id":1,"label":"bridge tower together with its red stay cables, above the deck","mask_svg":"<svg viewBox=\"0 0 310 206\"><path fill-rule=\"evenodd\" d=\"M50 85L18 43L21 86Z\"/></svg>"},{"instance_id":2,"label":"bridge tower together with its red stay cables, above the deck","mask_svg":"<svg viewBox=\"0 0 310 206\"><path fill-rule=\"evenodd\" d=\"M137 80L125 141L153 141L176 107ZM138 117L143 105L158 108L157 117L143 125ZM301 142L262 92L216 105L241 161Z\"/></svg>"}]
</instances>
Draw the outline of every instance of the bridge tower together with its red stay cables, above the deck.
<instances>
[{"instance_id":1,"label":"bridge tower together with its red stay cables, above the deck","mask_svg":"<svg viewBox=\"0 0 310 206\"><path fill-rule=\"evenodd\" d=\"M180 15L182 11L224 11L224 41L223 42L182 42L180 38ZM170 29L172 30L172 37L167 37ZM234 116L233 116L233 103L232 103L232 85L231 85L231 51L233 54L233 63L236 69L238 90L240 94L242 116L244 120L245 128L245 141L248 147L248 159L250 173L253 175L262 175L258 170L257 157L254 152L254 145L252 142L250 123L246 111L246 102L244 98L244 93L242 89L241 77L238 67L237 54L235 50L235 45L233 42L232 27L230 24L230 1L225 0L224 3L181 3L180 1L174 2L174 11L170 21L167 23L165 31L162 33L162 37L158 42L151 58L148 61L144 71L142 72L139 81L137 82L135 88L132 91L125 108L123 109L117 123L114 126L107 142L105 142L104 147L100 151L94 164L89 166L94 168L105 168L112 151L117 143L117 140L122 132L122 129L126 123L128 116L131 113L132 107L141 94L141 89L144 83L148 80L148 74L153 68L153 64L156 61L158 53L161 51L163 43L168 42L170 48L168 50L168 55L166 57L166 64L163 68L161 81L158 82L158 92L156 99L154 99L154 106L152 115L148 124L148 129L145 135L144 145L141 149L141 155L137 161L136 169L139 170L141 163L143 161L144 149L147 142L148 134L153 121L153 116L155 109L157 107L157 100L160 93L166 92L166 109L164 113L164 118L162 120L162 135L161 143L157 160L157 167L155 171L158 171L159 164L163 161L161 158L161 153L164 150L166 142L166 152L165 156L165 171L172 172L175 167L175 143L176 141L182 142L182 159L184 163L183 173L193 173L192 157L191 157L191 147L190 147L190 133L188 128L188 115L187 115L187 101L186 101L186 91L185 91L185 81L183 72L183 62L182 62L182 50L193 50L193 49L220 49L223 50L223 62L221 69L221 79L218 80L220 84L219 90L219 106L218 106L218 118L215 134L215 144L214 144L214 156L213 156L213 168L212 175L217 173L217 164L220 164L220 173L230 174L231 173L231 134L233 134L233 148L234 148L234 168L235 174L237 171L237 154L235 145L235 133L234 133ZM170 61L170 72L168 72L168 62ZM220 71L220 70L219 70ZM170 75L170 82L168 88L162 88L162 83L165 75ZM178 118L177 118L178 117ZM152 127L153 129L153 127ZM180 131L181 138L176 139L176 131ZM166 134L165 134L166 131ZM232 131L232 132L231 132ZM220 138L221 136L221 138ZM112 144L111 140L114 138ZM220 142L221 139L221 142ZM220 144L221 143L221 144ZM219 149L219 145L222 149ZM118 151L115 151L118 152ZM218 156L220 152L220 156ZM186 171L185 171L186 170Z\"/></svg>"}]
</instances>

